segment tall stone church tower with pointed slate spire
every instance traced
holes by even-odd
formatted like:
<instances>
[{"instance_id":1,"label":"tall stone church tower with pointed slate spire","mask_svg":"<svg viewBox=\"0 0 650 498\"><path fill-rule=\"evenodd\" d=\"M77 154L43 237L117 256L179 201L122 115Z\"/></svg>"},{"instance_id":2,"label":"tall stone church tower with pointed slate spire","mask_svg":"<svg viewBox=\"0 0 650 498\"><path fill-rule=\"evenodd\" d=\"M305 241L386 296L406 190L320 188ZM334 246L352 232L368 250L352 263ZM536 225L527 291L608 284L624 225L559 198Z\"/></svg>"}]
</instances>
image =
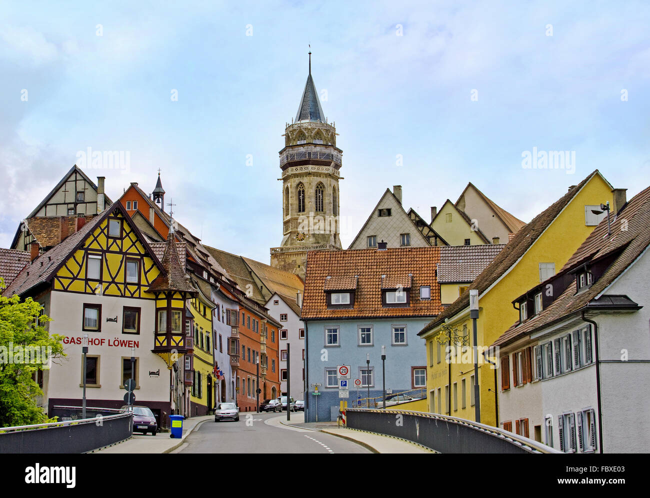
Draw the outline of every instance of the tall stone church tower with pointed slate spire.
<instances>
[{"instance_id":1,"label":"tall stone church tower with pointed slate spire","mask_svg":"<svg viewBox=\"0 0 650 498\"><path fill-rule=\"evenodd\" d=\"M307 251L341 249L336 128L328 123L309 75L296 119L285 127L282 170L283 238L271 248L271 266L305 278Z\"/></svg>"}]
</instances>

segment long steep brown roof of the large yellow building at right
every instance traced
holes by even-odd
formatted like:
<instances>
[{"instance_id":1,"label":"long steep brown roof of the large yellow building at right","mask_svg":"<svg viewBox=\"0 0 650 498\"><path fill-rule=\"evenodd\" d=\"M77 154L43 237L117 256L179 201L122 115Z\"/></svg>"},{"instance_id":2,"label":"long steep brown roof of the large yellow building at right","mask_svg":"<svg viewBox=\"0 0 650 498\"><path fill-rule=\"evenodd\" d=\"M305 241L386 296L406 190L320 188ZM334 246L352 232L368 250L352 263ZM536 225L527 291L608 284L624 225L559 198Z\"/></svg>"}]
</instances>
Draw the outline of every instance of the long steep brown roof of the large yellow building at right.
<instances>
[{"instance_id":1,"label":"long steep brown roof of the large yellow building at right","mask_svg":"<svg viewBox=\"0 0 650 498\"><path fill-rule=\"evenodd\" d=\"M525 228L519 230L517 235L513 237L512 241L506 244L506 247L493 259L492 263L487 265L474 283L472 287L478 289L479 295L484 293L493 283L497 282L499 278L505 274L510 268L519 261L519 258L522 257L528 249L534 244L538 237L547 229L553 220L562 212L562 210L573 200L573 198L582 190L582 187L586 185L591 178L594 176L601 176L598 170L595 170L588 177L582 180L576 187L569 190L564 196L559 200L552 203L544 211L535 216L530 223L528 223ZM456 299L452 304L450 304L441 315L432 320L418 335L426 334L429 330L435 326L441 324L448 317L456 315L456 313L462 311L463 309L469 306L469 290L462 293L458 299Z\"/></svg>"}]
</instances>

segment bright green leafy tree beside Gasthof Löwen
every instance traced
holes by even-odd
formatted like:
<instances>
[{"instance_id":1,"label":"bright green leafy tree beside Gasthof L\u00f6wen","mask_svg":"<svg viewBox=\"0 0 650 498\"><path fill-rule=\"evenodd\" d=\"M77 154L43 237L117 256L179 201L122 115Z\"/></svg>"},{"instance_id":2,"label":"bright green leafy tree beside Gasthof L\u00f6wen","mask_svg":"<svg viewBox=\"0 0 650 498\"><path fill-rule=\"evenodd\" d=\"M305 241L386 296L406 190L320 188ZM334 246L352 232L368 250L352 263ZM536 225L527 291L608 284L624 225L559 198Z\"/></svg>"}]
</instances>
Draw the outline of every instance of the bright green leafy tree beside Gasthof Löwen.
<instances>
[{"instance_id":1,"label":"bright green leafy tree beside Gasthof L\u00f6wen","mask_svg":"<svg viewBox=\"0 0 650 498\"><path fill-rule=\"evenodd\" d=\"M0 292L4 288L0 278ZM43 391L33 377L65 354L63 336L45 330L50 319L41 314L42 308L32 298L21 302L18 296L0 295L0 427L49 421L36 406Z\"/></svg>"}]
</instances>

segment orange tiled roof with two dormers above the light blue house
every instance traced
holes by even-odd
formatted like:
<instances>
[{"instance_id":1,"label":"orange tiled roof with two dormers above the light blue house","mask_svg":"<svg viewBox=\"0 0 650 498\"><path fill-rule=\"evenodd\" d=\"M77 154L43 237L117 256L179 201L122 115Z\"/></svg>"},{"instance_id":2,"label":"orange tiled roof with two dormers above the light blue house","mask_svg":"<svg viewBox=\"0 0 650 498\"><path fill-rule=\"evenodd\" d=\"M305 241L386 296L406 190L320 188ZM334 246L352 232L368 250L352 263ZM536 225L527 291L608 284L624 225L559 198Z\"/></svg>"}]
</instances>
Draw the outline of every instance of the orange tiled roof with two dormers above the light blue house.
<instances>
[{"instance_id":1,"label":"orange tiled roof with two dormers above the light blue house","mask_svg":"<svg viewBox=\"0 0 650 498\"><path fill-rule=\"evenodd\" d=\"M440 262L440 247L405 247L387 250L354 249L307 252L305 296L302 319L432 317L440 313L440 287L435 281L435 267ZM409 291L410 306L382 306L382 275L404 278L413 274ZM354 308L328 309L326 277L344 282L358 276ZM431 298L419 298L419 286L430 285Z\"/></svg>"}]
</instances>

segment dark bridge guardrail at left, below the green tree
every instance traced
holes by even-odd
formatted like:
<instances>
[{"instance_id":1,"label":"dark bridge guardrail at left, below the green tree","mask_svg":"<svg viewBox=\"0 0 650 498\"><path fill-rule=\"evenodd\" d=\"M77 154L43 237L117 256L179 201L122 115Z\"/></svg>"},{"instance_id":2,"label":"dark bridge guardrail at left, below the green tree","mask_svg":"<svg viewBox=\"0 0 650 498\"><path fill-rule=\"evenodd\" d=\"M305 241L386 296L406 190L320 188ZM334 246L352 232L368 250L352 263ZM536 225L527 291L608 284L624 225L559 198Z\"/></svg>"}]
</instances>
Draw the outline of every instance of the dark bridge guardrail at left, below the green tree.
<instances>
[{"instance_id":1,"label":"dark bridge guardrail at left, below the green tree","mask_svg":"<svg viewBox=\"0 0 650 498\"><path fill-rule=\"evenodd\" d=\"M60 407L75 408L75 407ZM133 414L87 408L98 417L37 425L0 427L0 453L86 453L119 443L133 434Z\"/></svg>"}]
</instances>

